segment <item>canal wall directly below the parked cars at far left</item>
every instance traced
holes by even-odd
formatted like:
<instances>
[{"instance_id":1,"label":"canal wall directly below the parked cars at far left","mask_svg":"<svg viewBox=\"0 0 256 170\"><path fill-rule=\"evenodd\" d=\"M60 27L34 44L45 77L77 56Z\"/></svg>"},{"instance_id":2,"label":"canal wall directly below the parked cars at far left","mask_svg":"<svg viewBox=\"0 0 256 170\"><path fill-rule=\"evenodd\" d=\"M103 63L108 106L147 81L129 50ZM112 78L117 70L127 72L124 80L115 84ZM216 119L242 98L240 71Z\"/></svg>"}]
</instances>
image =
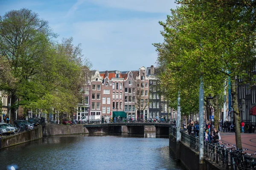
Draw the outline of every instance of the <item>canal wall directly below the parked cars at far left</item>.
<instances>
[{"instance_id":1,"label":"canal wall directly below the parked cars at far left","mask_svg":"<svg viewBox=\"0 0 256 170\"><path fill-rule=\"evenodd\" d=\"M15 135L0 137L0 149L31 142L43 137L42 126L35 127L33 130L17 133Z\"/></svg>"}]
</instances>

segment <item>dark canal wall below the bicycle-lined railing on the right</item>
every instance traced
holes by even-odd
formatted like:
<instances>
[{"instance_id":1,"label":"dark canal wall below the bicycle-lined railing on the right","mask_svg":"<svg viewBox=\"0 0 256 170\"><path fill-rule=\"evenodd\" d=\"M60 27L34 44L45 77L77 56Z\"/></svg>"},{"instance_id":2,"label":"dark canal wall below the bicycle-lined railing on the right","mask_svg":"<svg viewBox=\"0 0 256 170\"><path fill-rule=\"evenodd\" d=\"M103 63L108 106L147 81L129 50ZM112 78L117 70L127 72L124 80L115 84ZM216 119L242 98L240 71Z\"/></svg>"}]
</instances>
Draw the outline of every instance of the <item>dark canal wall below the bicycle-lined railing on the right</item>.
<instances>
[{"instance_id":1,"label":"dark canal wall below the bicycle-lined railing on the right","mask_svg":"<svg viewBox=\"0 0 256 170\"><path fill-rule=\"evenodd\" d=\"M210 161L204 159L204 164L199 164L199 154L183 142L177 142L176 136L169 134L169 148L187 170L222 170Z\"/></svg>"}]
</instances>

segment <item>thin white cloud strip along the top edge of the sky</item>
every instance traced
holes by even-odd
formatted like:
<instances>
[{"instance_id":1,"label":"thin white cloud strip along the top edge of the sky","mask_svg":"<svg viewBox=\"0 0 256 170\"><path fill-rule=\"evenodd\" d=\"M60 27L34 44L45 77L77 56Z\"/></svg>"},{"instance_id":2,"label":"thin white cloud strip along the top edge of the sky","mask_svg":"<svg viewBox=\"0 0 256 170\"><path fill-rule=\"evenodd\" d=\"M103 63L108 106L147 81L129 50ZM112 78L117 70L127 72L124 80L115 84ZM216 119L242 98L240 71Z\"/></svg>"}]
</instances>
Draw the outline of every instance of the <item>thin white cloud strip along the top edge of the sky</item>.
<instances>
[{"instance_id":1,"label":"thin white cloud strip along the top edge of the sky","mask_svg":"<svg viewBox=\"0 0 256 170\"><path fill-rule=\"evenodd\" d=\"M175 0L87 0L100 6L123 8L143 12L159 12L169 14L176 8Z\"/></svg>"}]
</instances>

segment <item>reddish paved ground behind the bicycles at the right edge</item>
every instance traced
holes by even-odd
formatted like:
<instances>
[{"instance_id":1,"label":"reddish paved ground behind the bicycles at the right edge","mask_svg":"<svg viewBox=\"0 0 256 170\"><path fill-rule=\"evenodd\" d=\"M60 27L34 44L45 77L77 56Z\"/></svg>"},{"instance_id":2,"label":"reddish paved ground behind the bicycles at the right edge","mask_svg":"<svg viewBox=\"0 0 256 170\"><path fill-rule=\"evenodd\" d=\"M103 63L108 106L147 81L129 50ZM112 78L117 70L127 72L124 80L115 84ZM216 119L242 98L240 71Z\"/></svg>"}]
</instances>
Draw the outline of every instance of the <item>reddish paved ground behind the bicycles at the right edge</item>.
<instances>
[{"instance_id":1,"label":"reddish paved ground behind the bicycles at the right edge","mask_svg":"<svg viewBox=\"0 0 256 170\"><path fill-rule=\"evenodd\" d=\"M231 145L236 144L235 133L224 133L221 134L221 142L228 143ZM241 133L241 141L243 149L248 149L246 153L256 152L256 133Z\"/></svg>"}]
</instances>

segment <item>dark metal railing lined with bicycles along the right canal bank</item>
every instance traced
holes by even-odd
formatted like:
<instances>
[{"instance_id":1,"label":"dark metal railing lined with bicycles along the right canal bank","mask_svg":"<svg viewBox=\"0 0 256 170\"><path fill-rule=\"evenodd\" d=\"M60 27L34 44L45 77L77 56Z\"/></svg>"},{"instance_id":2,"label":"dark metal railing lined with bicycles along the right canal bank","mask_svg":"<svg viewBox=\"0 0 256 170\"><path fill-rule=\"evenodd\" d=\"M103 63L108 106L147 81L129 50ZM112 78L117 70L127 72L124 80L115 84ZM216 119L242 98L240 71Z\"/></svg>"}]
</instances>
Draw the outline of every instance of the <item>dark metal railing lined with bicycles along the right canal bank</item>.
<instances>
[{"instance_id":1,"label":"dark metal railing lined with bicycles along the right canal bank","mask_svg":"<svg viewBox=\"0 0 256 170\"><path fill-rule=\"evenodd\" d=\"M176 136L176 128L171 127L170 133ZM195 136L191 136L186 132L180 131L181 142L186 144L192 150L199 153L199 140ZM232 150L225 147L227 144L211 144L204 141L204 159L212 162L218 167L229 170L255 170L256 169L256 155L249 155L241 151ZM254 168L254 169L253 169Z\"/></svg>"}]
</instances>

